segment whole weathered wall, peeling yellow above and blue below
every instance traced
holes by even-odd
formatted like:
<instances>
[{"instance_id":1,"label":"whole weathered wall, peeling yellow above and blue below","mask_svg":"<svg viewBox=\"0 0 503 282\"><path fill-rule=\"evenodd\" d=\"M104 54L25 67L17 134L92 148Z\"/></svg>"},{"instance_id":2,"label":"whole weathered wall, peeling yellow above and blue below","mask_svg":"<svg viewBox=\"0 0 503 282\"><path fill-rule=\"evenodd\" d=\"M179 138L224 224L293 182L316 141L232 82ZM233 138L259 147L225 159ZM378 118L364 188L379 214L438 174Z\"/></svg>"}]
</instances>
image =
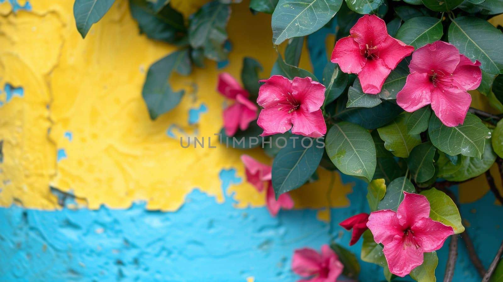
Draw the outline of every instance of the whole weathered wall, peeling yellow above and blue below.
<instances>
[{"instance_id":1,"label":"whole weathered wall, peeling yellow above and blue below","mask_svg":"<svg viewBox=\"0 0 503 282\"><path fill-rule=\"evenodd\" d=\"M172 0L186 15L204 2ZM270 16L251 15L244 2L232 6L228 64L177 77L182 103L152 122L141 98L146 70L175 49L140 35L127 1L82 39L73 1L0 0L0 281L293 281L295 248L347 245L337 223L365 211L365 183L319 169L320 180L293 193L295 210L271 218L239 160L270 163L260 150L180 146L180 137L216 141L219 72L237 78L251 56L267 76L277 56ZM308 38L302 57L316 72L333 46L326 32ZM503 208L487 190L483 178L459 189L485 265L503 237L494 218ZM462 244L459 253L454 280L480 280ZM446 248L439 257L442 277ZM375 281L378 267L361 264L361 279Z\"/></svg>"}]
</instances>

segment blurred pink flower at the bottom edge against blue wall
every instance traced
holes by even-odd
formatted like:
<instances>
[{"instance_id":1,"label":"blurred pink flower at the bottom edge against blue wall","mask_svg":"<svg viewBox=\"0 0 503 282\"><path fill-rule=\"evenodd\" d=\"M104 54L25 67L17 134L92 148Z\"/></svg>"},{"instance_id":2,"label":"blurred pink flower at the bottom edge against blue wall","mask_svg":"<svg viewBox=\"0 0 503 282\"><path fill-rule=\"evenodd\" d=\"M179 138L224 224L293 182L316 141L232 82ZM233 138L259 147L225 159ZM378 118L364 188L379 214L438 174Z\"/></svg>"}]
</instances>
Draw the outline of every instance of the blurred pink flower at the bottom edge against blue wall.
<instances>
[{"instance_id":1,"label":"blurred pink flower at the bottom edge against blue wall","mask_svg":"<svg viewBox=\"0 0 503 282\"><path fill-rule=\"evenodd\" d=\"M343 272L344 265L337 254L328 246L321 246L321 254L310 248L295 250L292 257L292 270L303 277L297 282L336 282Z\"/></svg>"}]
</instances>

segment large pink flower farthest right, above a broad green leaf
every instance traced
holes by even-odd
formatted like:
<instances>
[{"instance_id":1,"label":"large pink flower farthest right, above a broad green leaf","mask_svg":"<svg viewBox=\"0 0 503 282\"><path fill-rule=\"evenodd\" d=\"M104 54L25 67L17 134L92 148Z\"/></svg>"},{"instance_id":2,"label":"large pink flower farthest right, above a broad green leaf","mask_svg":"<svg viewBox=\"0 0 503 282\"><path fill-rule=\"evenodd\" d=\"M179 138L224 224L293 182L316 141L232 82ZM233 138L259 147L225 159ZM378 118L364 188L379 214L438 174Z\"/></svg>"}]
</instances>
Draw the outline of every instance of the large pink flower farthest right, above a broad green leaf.
<instances>
[{"instance_id":1,"label":"large pink flower farthest right, above a broad green leaf","mask_svg":"<svg viewBox=\"0 0 503 282\"><path fill-rule=\"evenodd\" d=\"M480 62L473 63L446 42L435 41L412 54L410 74L396 96L396 103L407 112L428 104L446 126L463 124L471 103L466 90L482 80Z\"/></svg>"}]
</instances>

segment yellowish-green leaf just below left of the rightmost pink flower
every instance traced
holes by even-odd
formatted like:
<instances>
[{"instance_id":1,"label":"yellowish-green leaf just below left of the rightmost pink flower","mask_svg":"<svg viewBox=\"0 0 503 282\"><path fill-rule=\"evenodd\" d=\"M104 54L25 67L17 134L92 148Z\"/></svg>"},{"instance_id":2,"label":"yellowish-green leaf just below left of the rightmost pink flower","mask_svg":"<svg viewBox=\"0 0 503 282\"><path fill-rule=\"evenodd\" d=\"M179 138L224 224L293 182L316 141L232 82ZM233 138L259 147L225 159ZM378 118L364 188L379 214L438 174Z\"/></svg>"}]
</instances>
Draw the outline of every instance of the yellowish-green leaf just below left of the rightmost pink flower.
<instances>
[{"instance_id":1,"label":"yellowish-green leaf just below left of the rightmost pink flower","mask_svg":"<svg viewBox=\"0 0 503 282\"><path fill-rule=\"evenodd\" d=\"M384 147L393 155L406 158L412 148L421 144L419 134L407 134L407 121L410 113L401 113L388 125L377 129L379 136L384 140Z\"/></svg>"}]
</instances>

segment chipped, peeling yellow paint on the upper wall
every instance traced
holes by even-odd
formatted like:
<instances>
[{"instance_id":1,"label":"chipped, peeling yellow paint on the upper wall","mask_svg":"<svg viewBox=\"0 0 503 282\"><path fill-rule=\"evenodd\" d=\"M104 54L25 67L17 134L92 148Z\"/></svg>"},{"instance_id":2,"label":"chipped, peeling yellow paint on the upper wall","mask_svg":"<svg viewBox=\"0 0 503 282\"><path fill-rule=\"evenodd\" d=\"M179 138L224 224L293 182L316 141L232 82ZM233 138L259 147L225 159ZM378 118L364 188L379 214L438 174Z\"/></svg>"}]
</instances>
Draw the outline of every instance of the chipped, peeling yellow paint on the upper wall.
<instances>
[{"instance_id":1,"label":"chipped, peeling yellow paint on the upper wall","mask_svg":"<svg viewBox=\"0 0 503 282\"><path fill-rule=\"evenodd\" d=\"M172 1L186 16L205 2ZM222 203L228 195L223 195L218 174L234 167L244 179L242 153L271 162L257 149L182 148L179 139L168 137L166 130L177 125L177 137L186 137L185 132L216 143L224 99L215 90L220 72L215 63L207 61L205 69L173 79L175 89L187 90L185 97L175 110L151 121L141 98L146 70L175 47L140 35L126 0L116 1L82 39L72 5L68 0L38 1L32 3L32 12L16 14L5 3L0 6L0 14L7 15L0 17L0 86L24 88L23 98L14 97L0 108L1 206L15 202L57 209L52 185L71 191L80 199L77 203L90 209L127 208L144 200L148 209L175 211L195 187ZM232 5L229 37L235 44L225 71L239 77L242 58L251 56L263 63L263 76L268 75L277 57L270 17L253 16L245 3ZM301 65L310 68L306 51ZM188 110L202 103L208 112L197 125L189 125ZM71 141L64 137L67 131L73 134ZM67 158L57 162L61 148ZM352 185L342 184L337 173L318 173L319 181L292 193L296 208L326 208L329 202L333 207L349 205L345 195ZM264 195L245 181L227 192L234 193L237 208L265 202Z\"/></svg>"}]
</instances>

